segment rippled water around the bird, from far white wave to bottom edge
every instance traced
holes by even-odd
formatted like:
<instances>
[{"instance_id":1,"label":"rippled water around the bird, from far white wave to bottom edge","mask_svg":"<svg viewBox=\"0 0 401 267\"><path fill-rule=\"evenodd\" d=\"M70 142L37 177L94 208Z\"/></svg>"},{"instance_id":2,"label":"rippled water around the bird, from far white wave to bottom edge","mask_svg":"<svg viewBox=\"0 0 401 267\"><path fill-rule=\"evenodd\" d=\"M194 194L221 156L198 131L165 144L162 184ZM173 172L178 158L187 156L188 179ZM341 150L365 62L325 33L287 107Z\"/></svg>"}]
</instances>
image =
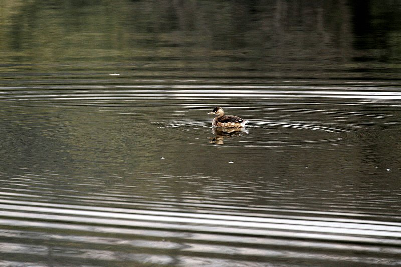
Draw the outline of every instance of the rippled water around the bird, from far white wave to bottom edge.
<instances>
[{"instance_id":1,"label":"rippled water around the bird, from far white wave to bottom edge","mask_svg":"<svg viewBox=\"0 0 401 267\"><path fill-rule=\"evenodd\" d=\"M2 265L401 264L398 83L65 83L0 88Z\"/></svg>"}]
</instances>

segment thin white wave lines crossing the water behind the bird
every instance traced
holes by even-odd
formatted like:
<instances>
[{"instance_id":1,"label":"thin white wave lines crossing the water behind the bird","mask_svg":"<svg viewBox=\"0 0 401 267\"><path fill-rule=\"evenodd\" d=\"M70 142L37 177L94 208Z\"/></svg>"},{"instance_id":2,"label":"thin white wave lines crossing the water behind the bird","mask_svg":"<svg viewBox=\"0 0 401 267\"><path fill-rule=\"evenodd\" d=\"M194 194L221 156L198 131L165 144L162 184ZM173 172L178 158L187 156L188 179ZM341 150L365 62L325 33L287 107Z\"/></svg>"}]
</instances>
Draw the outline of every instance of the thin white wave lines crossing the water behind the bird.
<instances>
[{"instance_id":1,"label":"thin white wave lines crossing the water behind the bird","mask_svg":"<svg viewBox=\"0 0 401 267\"><path fill-rule=\"evenodd\" d=\"M124 89L121 89L124 88ZM187 89L192 88L192 89ZM307 90L305 89L307 88ZM91 90L92 89L92 90ZM101 89L101 90L100 90ZM401 92L382 87L303 87L252 85L129 85L129 86L44 86L0 87L0 100L90 100L166 97L171 99L213 98L349 98L401 100Z\"/></svg>"}]
</instances>

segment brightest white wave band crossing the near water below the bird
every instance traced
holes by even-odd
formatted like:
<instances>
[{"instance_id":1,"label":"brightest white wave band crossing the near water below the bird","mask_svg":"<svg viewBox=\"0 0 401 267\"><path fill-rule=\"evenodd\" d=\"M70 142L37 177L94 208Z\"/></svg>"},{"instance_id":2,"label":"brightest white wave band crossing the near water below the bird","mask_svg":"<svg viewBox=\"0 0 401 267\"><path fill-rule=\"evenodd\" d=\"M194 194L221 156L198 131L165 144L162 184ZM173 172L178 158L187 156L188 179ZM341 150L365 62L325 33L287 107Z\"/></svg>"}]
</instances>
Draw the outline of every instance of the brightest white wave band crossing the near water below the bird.
<instances>
[{"instance_id":1,"label":"brightest white wave band crossing the near water below the bird","mask_svg":"<svg viewBox=\"0 0 401 267\"><path fill-rule=\"evenodd\" d=\"M74 206L71 206L74 207ZM77 206L75 206L77 207ZM90 223L101 225L162 227L162 228L191 228L202 227L224 228L222 231L240 232L241 229L249 234L265 234L265 231L294 231L297 235L350 235L370 236L380 238L401 238L401 224L393 226L366 223L346 223L309 220L289 220L278 218L261 218L247 216L210 215L194 213L177 213L163 211L117 210L107 208L81 207L80 209L53 208L41 206L23 206L0 204L0 216L24 219L41 219L49 221L64 221L74 223ZM118 210L118 211L121 211ZM146 224L143 222L146 221ZM163 226L164 225L164 226ZM179 225L179 226L178 226ZM186 225L186 226L183 226ZM191 226L192 225L192 226Z\"/></svg>"}]
</instances>

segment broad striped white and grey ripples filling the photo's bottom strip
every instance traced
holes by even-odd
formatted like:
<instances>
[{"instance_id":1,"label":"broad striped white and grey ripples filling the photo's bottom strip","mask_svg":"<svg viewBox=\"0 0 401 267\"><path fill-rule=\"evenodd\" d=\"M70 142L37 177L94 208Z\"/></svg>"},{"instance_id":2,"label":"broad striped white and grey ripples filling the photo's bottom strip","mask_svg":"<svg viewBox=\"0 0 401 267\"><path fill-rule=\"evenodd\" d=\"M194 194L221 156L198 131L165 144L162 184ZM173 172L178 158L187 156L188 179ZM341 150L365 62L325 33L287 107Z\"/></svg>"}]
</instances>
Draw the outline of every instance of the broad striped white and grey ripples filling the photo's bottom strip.
<instances>
[{"instance_id":1,"label":"broad striped white and grey ripples filling the photo's bottom strip","mask_svg":"<svg viewBox=\"0 0 401 267\"><path fill-rule=\"evenodd\" d=\"M254 266L277 257L287 263L313 261L328 253L331 258L325 257L326 263L380 261L397 265L401 262L399 222L348 218L335 221L316 216L288 219L4 201L0 205L0 225L0 238L13 240L0 242L1 253L39 258L51 253L90 260L93 265L99 260L102 264L123 260L177 266L195 262ZM50 229L60 232L48 232ZM56 245L49 248L44 242ZM132 249L138 252L128 252ZM306 250L302 252L302 249ZM337 254L343 250L358 256ZM232 259L233 256L237 259Z\"/></svg>"}]
</instances>

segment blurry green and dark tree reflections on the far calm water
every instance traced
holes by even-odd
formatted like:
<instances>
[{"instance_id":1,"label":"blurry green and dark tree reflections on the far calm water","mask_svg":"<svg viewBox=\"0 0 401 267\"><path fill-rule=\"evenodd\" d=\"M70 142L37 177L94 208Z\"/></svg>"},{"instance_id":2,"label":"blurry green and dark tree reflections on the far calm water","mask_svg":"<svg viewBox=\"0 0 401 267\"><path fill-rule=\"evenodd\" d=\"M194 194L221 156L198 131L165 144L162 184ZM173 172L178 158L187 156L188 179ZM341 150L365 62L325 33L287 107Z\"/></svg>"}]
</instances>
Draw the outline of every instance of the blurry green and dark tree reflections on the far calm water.
<instances>
[{"instance_id":1,"label":"blurry green and dark tree reflections on the far calm water","mask_svg":"<svg viewBox=\"0 0 401 267\"><path fill-rule=\"evenodd\" d=\"M136 69L275 72L399 62L393 1L13 1L3 62L125 62ZM343 65L341 65L343 64ZM347 64L347 65L345 65ZM352 67L372 67L352 65Z\"/></svg>"}]
</instances>

